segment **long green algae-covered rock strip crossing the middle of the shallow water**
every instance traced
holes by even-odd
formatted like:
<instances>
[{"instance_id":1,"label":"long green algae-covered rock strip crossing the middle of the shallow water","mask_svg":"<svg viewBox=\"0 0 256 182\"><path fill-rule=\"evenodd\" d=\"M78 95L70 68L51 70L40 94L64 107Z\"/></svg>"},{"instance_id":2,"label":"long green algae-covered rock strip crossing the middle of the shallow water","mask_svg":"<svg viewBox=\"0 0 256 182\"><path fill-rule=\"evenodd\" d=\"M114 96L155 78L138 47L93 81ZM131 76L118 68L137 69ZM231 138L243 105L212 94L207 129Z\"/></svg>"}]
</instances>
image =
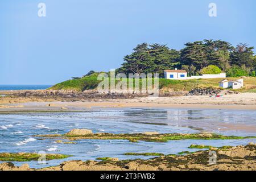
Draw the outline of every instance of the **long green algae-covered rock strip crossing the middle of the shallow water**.
<instances>
[{"instance_id":1,"label":"long green algae-covered rock strip crossing the middle of the shallow water","mask_svg":"<svg viewBox=\"0 0 256 182\"><path fill-rule=\"evenodd\" d=\"M80 140L80 139L123 139L129 141L146 141L146 142L167 142L168 140L183 140L183 139L246 139L246 138L256 138L256 137L236 137L236 136L224 136L218 134L155 134L146 135L143 133L138 134L110 134L110 133L97 133L88 135L35 135L35 137L49 137L49 138L64 138L69 140Z\"/></svg>"}]
</instances>

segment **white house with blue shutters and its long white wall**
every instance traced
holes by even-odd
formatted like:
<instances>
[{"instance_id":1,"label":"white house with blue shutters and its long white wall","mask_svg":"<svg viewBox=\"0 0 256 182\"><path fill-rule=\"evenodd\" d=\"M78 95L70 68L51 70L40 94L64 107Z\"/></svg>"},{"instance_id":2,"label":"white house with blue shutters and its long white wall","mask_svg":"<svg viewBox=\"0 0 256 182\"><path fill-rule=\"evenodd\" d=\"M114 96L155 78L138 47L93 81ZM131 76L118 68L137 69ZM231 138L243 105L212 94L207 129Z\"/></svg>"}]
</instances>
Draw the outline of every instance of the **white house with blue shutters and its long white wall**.
<instances>
[{"instance_id":1,"label":"white house with blue shutters and its long white wall","mask_svg":"<svg viewBox=\"0 0 256 182\"><path fill-rule=\"evenodd\" d=\"M164 78L171 80L191 80L191 79L199 79L199 78L225 78L226 73L220 74L204 74L199 76L191 76L188 77L188 73L185 70L180 70L175 68L175 70L165 70Z\"/></svg>"}]
</instances>

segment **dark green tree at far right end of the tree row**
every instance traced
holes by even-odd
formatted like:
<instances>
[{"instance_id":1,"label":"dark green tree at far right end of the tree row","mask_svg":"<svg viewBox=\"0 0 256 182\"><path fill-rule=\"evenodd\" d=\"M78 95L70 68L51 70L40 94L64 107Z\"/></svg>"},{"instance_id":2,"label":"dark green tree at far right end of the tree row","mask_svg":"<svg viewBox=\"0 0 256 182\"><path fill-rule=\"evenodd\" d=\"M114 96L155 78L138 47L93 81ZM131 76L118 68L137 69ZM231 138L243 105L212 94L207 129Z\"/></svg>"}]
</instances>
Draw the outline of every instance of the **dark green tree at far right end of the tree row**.
<instances>
[{"instance_id":1,"label":"dark green tree at far right end of the tree row","mask_svg":"<svg viewBox=\"0 0 256 182\"><path fill-rule=\"evenodd\" d=\"M254 47L248 47L248 44L240 43L230 54L230 63L232 65L242 66L253 69L254 67Z\"/></svg>"}]
</instances>

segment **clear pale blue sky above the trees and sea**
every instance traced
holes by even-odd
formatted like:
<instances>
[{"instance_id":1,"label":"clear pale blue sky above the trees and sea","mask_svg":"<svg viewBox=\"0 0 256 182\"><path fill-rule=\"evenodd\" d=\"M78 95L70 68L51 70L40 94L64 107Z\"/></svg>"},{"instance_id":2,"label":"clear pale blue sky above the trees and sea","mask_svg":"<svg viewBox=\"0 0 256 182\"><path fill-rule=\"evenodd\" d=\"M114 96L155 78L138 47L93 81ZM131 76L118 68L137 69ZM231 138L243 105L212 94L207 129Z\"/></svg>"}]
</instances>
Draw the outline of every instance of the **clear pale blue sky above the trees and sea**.
<instances>
[{"instance_id":1,"label":"clear pale blue sky above the trees and sea","mask_svg":"<svg viewBox=\"0 0 256 182\"><path fill-rule=\"evenodd\" d=\"M217 5L216 17L209 3ZM221 39L256 47L255 7L255 0L0 1L0 85L51 85L110 71L144 42L181 49Z\"/></svg>"}]
</instances>

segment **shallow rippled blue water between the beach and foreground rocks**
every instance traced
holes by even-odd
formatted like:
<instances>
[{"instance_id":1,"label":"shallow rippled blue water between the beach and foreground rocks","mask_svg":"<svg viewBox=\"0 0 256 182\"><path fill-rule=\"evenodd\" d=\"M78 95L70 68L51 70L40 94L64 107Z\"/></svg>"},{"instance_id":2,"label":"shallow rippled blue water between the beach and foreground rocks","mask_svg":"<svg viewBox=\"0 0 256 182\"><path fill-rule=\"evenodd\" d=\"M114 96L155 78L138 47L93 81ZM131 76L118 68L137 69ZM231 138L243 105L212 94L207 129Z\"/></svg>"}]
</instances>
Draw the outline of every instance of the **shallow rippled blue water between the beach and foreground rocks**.
<instances>
[{"instance_id":1,"label":"shallow rippled blue water between the beach and foreground rocks","mask_svg":"<svg viewBox=\"0 0 256 182\"><path fill-rule=\"evenodd\" d=\"M253 110L188 110L188 109L106 109L81 113L24 113L0 115L0 152L40 152L73 155L67 159L50 160L48 164L25 162L33 168L56 166L65 160L89 160L98 157L147 159L150 156L125 156L126 152L160 152L177 154L196 151L191 144L237 146L256 142L242 140L177 140L166 143L127 140L77 140L76 144L56 143L56 139L32 137L37 134L64 134L72 129L86 128L94 133L199 133L210 131L224 135L256 136L256 113ZM14 162L18 166L22 162Z\"/></svg>"}]
</instances>

